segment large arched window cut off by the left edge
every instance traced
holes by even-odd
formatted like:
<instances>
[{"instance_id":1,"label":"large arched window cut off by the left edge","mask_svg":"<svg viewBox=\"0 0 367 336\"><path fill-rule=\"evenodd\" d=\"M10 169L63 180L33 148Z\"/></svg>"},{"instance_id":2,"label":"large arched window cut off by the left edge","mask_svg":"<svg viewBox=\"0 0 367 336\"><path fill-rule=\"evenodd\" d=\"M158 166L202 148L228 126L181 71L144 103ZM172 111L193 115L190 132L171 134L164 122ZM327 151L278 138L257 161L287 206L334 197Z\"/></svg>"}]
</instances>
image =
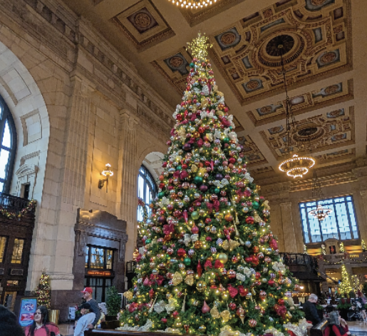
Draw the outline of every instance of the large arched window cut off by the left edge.
<instances>
[{"instance_id":1,"label":"large arched window cut off by the left edge","mask_svg":"<svg viewBox=\"0 0 367 336\"><path fill-rule=\"evenodd\" d=\"M9 193L16 153L16 128L4 99L0 96L0 192Z\"/></svg>"}]
</instances>

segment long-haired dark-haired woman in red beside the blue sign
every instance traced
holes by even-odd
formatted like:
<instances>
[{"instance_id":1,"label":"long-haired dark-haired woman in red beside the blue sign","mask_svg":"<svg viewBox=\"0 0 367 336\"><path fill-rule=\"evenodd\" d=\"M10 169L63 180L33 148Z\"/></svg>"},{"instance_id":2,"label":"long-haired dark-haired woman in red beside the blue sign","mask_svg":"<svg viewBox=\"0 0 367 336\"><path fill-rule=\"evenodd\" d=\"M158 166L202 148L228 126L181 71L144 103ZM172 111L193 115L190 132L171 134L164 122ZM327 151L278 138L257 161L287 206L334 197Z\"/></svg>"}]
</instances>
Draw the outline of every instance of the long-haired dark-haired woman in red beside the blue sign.
<instances>
[{"instance_id":1,"label":"long-haired dark-haired woman in red beside the blue sign","mask_svg":"<svg viewBox=\"0 0 367 336\"><path fill-rule=\"evenodd\" d=\"M48 320L48 310L41 305L33 315L33 323L26 327L26 336L60 336L58 326Z\"/></svg>"}]
</instances>

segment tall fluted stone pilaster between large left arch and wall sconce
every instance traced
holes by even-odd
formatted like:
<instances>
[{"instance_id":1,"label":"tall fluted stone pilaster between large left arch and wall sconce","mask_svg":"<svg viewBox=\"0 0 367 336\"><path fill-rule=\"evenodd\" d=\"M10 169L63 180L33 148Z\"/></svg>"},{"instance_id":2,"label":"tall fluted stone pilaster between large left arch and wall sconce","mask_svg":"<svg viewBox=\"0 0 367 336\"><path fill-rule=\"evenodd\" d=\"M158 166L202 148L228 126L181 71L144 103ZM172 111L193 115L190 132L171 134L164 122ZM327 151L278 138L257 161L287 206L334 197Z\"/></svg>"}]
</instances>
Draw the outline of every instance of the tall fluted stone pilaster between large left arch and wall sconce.
<instances>
[{"instance_id":1,"label":"tall fluted stone pilaster between large left arch and wall sconce","mask_svg":"<svg viewBox=\"0 0 367 336\"><path fill-rule=\"evenodd\" d=\"M91 93L88 81L73 76L72 95L69 101L63 162L60 173L56 223L53 228L53 250L50 260L50 279L53 290L73 288L74 225L77 210L84 204L86 189L86 164L88 152ZM60 195L59 194L59 195Z\"/></svg>"}]
</instances>

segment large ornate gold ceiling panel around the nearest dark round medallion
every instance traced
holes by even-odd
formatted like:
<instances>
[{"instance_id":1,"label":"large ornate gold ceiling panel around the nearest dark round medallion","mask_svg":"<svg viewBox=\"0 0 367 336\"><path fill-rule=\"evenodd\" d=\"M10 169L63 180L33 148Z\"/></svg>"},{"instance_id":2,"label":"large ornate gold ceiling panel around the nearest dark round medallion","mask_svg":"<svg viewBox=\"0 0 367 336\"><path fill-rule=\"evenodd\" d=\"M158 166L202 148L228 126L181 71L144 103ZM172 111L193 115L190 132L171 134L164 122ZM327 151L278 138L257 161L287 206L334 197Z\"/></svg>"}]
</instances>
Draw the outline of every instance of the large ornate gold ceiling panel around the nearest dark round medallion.
<instances>
[{"instance_id":1,"label":"large ornate gold ceiling panel around the nearest dark round medallion","mask_svg":"<svg viewBox=\"0 0 367 336\"><path fill-rule=\"evenodd\" d=\"M242 105L284 90L280 43L289 88L349 71L350 8L348 0L278 1L210 36L210 58Z\"/></svg>"}]
</instances>

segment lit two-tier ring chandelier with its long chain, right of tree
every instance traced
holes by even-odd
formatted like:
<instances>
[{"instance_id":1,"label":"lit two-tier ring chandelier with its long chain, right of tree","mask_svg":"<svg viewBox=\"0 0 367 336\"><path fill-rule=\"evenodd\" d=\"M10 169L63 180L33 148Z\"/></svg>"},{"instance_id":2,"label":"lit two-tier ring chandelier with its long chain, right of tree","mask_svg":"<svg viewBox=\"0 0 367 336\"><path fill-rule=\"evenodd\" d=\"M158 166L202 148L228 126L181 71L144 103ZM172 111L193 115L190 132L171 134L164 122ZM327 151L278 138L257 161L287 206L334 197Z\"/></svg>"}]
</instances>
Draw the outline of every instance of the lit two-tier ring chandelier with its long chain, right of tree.
<instances>
[{"instance_id":1,"label":"lit two-tier ring chandelier with its long chain, right of tree","mask_svg":"<svg viewBox=\"0 0 367 336\"><path fill-rule=\"evenodd\" d=\"M291 103L288 96L288 88L286 87L286 71L284 68L283 55L286 54L284 44L279 41L275 46L276 56L281 56L281 72L283 73L284 88L286 91L286 147L284 153L290 155L291 158L282 161L279 165L279 170L286 173L291 178L301 178L308 173L309 168L315 165L314 158L311 156L299 156L293 152L294 139L293 135L296 132L296 120L291 110Z\"/></svg>"}]
</instances>

